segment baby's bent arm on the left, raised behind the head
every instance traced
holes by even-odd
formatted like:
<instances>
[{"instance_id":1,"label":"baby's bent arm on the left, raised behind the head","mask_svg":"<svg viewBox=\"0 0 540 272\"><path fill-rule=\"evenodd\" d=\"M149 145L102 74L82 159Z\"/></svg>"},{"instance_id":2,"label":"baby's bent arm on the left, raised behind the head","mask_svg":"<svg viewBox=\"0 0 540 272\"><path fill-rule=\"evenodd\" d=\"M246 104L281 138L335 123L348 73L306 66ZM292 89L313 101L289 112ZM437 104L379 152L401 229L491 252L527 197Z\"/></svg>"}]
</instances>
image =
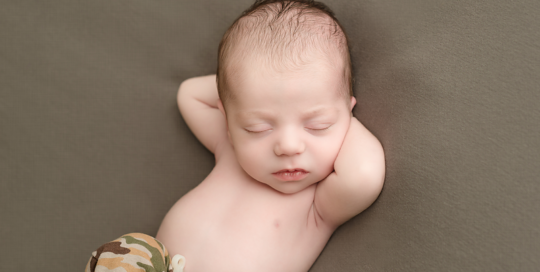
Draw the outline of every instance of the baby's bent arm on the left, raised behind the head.
<instances>
[{"instance_id":1,"label":"baby's bent arm on the left, raised behind the head","mask_svg":"<svg viewBox=\"0 0 540 272\"><path fill-rule=\"evenodd\" d=\"M225 117L218 109L216 75L185 80L178 89L178 107L197 139L212 153L228 141Z\"/></svg>"}]
</instances>

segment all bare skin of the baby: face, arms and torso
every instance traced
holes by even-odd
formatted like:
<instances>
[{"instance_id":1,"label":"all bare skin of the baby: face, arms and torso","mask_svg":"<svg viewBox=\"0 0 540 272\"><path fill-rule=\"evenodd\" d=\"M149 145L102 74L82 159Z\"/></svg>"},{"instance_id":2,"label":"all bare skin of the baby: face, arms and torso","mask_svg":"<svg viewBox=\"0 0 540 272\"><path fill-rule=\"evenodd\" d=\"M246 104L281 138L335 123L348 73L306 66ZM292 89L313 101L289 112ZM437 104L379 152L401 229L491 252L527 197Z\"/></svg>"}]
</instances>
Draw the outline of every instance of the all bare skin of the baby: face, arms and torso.
<instances>
[{"instance_id":1,"label":"all bare skin of the baby: face, arms and torso","mask_svg":"<svg viewBox=\"0 0 540 272\"><path fill-rule=\"evenodd\" d=\"M354 98L328 91L339 77L327 70L305 72L246 75L226 108L215 75L180 86L180 111L216 158L156 236L186 257L184 271L308 271L333 231L379 195L383 150L352 117Z\"/></svg>"}]
</instances>

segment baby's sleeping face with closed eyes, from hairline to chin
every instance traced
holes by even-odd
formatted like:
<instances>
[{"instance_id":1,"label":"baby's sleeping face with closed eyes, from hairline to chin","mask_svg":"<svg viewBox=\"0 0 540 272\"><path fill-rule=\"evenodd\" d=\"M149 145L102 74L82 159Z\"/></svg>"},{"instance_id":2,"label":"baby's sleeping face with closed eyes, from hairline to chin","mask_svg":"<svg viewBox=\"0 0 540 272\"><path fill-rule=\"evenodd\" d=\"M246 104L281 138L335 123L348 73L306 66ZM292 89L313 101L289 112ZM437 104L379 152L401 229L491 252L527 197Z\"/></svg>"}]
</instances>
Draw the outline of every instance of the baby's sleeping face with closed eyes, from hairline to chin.
<instances>
[{"instance_id":1,"label":"baby's sleeping face with closed eyes, from hairline to chin","mask_svg":"<svg viewBox=\"0 0 540 272\"><path fill-rule=\"evenodd\" d=\"M242 168L283 193L324 179L333 171L356 102L341 94L339 70L321 63L292 74L244 68L243 80L231 80L235 99L227 105L229 136Z\"/></svg>"}]
</instances>

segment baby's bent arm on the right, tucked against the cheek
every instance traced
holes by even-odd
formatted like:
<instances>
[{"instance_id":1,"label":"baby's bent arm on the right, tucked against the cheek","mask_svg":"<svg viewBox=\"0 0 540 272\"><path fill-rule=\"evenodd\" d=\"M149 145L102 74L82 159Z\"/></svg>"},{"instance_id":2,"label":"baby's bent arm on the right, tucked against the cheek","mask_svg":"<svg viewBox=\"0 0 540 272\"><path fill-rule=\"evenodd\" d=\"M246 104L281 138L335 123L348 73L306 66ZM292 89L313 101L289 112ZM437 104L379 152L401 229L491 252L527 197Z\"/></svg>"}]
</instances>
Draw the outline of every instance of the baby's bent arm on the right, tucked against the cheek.
<instances>
[{"instance_id":1,"label":"baby's bent arm on the right, tucked against the cheek","mask_svg":"<svg viewBox=\"0 0 540 272\"><path fill-rule=\"evenodd\" d=\"M319 182L314 207L329 226L338 227L377 199L384 182L382 146L356 118L334 163L334 172Z\"/></svg>"}]
</instances>

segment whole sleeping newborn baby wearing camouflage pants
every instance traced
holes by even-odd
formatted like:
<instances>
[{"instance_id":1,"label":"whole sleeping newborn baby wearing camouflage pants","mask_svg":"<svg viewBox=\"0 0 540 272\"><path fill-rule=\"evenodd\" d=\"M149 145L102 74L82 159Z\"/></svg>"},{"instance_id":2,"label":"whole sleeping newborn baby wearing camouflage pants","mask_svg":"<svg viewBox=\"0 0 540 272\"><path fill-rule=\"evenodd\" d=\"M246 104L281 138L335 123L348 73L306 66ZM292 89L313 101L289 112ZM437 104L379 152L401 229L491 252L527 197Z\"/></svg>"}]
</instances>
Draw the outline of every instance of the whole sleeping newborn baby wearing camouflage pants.
<instances>
[{"instance_id":1,"label":"whole sleeping newborn baby wearing camouflage pants","mask_svg":"<svg viewBox=\"0 0 540 272\"><path fill-rule=\"evenodd\" d=\"M122 236L94 252L87 271L120 267L107 264L115 258L126 271L308 271L383 185L381 144L352 116L355 103L333 13L314 1L257 1L225 33L217 75L178 92L214 169L156 239Z\"/></svg>"}]
</instances>

